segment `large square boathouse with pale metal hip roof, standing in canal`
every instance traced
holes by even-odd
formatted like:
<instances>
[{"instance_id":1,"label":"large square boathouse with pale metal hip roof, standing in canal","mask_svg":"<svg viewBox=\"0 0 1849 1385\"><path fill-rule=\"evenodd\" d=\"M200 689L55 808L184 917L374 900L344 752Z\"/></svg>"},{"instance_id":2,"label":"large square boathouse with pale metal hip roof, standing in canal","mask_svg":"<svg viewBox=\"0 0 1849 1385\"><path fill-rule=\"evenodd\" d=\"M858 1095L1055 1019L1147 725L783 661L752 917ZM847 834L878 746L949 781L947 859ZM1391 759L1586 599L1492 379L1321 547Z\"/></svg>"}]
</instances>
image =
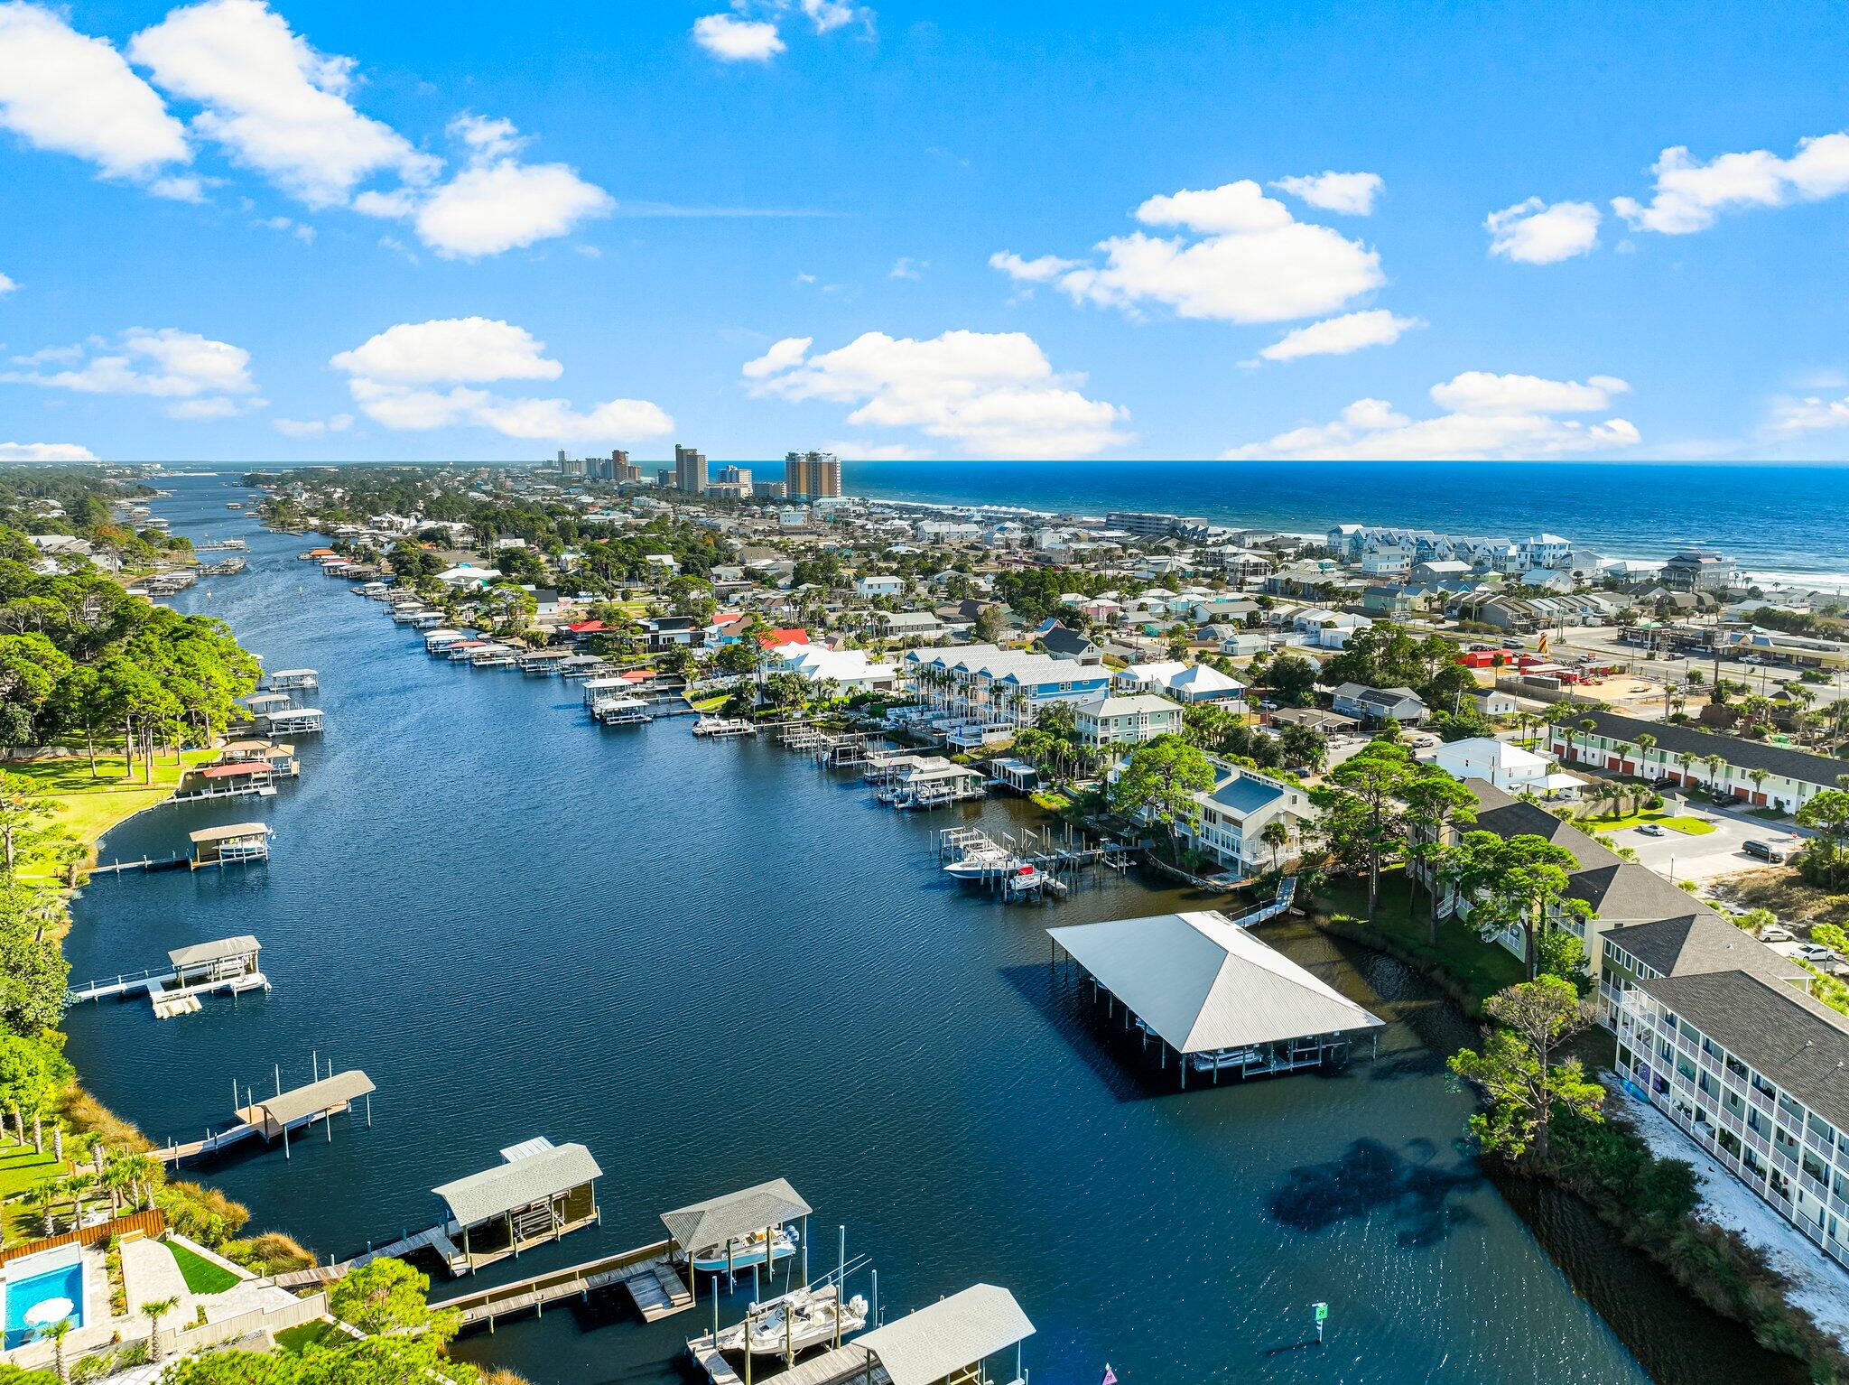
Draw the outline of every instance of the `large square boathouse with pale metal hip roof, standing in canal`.
<instances>
[{"instance_id":1,"label":"large square boathouse with pale metal hip roof, standing in canal","mask_svg":"<svg viewBox=\"0 0 1849 1385\"><path fill-rule=\"evenodd\" d=\"M1231 1076L1296 1072L1346 1063L1353 1041L1385 1024L1224 913L1157 913L1048 928L1106 1013L1180 1054L1189 1069Z\"/></svg>"}]
</instances>

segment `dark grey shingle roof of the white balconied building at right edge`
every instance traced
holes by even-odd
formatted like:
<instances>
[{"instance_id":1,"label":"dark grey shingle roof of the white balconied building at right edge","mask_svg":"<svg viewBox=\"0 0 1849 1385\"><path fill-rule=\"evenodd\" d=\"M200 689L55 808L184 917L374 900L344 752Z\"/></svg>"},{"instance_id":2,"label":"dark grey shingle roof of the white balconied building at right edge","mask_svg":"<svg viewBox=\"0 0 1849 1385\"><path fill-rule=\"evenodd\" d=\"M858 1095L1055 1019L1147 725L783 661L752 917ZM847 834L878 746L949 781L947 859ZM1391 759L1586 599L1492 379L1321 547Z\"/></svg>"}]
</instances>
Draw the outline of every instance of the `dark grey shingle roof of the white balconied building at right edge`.
<instances>
[{"instance_id":1,"label":"dark grey shingle roof of the white balconied building at right edge","mask_svg":"<svg viewBox=\"0 0 1849 1385\"><path fill-rule=\"evenodd\" d=\"M1734 1058L1849 1130L1849 1021L1808 995L1744 971L1638 982Z\"/></svg>"}]
</instances>

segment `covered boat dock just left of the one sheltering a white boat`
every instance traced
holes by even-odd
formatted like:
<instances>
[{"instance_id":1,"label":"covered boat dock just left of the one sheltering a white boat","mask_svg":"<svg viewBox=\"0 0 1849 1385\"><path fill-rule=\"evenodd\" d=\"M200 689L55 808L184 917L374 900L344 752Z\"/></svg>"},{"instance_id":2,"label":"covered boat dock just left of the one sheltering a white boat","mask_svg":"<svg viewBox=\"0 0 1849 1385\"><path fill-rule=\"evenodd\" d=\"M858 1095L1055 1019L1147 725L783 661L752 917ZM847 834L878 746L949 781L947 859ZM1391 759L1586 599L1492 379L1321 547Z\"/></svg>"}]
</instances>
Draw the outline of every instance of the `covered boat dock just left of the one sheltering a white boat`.
<instances>
[{"instance_id":1,"label":"covered boat dock just left of the one sheltering a white boat","mask_svg":"<svg viewBox=\"0 0 1849 1385\"><path fill-rule=\"evenodd\" d=\"M558 1241L597 1222L603 1169L582 1145L553 1145L544 1135L501 1150L501 1163L431 1191L449 1209L442 1230L460 1246L438 1246L451 1274Z\"/></svg>"}]
</instances>

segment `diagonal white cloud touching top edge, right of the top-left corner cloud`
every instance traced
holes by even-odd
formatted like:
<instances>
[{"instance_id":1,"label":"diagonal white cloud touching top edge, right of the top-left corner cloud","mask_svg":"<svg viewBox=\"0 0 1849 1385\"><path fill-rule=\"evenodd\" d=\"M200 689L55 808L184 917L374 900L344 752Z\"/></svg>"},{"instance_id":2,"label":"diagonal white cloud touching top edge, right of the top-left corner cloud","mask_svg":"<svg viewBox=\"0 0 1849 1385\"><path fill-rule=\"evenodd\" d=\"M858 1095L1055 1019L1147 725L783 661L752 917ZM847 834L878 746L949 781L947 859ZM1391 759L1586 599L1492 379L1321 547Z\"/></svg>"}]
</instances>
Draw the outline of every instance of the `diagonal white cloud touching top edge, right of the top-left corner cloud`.
<instances>
[{"instance_id":1,"label":"diagonal white cloud touching top edge, right of the top-left corner cloud","mask_svg":"<svg viewBox=\"0 0 1849 1385\"><path fill-rule=\"evenodd\" d=\"M129 41L163 91L203 107L192 128L309 207L351 200L368 178L410 183L438 161L348 102L351 57L320 54L263 0L203 0Z\"/></svg>"}]
</instances>

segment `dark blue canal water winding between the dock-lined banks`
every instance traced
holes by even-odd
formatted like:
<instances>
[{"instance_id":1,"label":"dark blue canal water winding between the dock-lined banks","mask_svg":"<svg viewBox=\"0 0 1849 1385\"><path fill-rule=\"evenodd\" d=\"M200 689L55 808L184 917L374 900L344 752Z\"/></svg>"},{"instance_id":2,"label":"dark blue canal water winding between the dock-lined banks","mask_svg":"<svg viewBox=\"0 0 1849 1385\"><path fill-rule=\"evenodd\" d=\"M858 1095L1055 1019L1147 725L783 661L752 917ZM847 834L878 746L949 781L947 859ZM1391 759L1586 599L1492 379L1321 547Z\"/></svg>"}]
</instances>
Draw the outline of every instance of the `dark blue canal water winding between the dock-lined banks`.
<instances>
[{"instance_id":1,"label":"dark blue canal water winding between the dock-lined banks","mask_svg":"<svg viewBox=\"0 0 1849 1385\"><path fill-rule=\"evenodd\" d=\"M575 684L425 658L298 562L307 540L226 510L251 499L229 479L166 484L178 533L251 545L244 575L176 605L272 668L318 668L327 732L276 799L165 806L102 851L172 854L264 817L268 865L98 876L68 939L83 978L255 934L274 993L168 1023L83 1006L70 1056L163 1141L224 1126L233 1082L272 1087L277 1065L285 1085L311 1061L362 1067L370 1128L202 1169L257 1226L348 1256L547 1135L603 1165L603 1226L483 1283L653 1241L666 1207L784 1176L815 1206L814 1269L845 1224L888 1318L1008 1285L1039 1328L1035 1381L1093 1385L1106 1363L1126 1385L1795 1379L1573 1204L1533 1215L1537 1239L1457 1145L1470 1100L1442 1050L1468 1026L1396 963L1270 932L1392 1017L1379 1058L1178 1093L1048 967L1043 930L1204 901L1109 873L1045 908L960 891L932 854L958 815L895 814L858 778L697 742L684 719L599 729ZM706 1320L592 1302L459 1350L542 1383L684 1381Z\"/></svg>"}]
</instances>

